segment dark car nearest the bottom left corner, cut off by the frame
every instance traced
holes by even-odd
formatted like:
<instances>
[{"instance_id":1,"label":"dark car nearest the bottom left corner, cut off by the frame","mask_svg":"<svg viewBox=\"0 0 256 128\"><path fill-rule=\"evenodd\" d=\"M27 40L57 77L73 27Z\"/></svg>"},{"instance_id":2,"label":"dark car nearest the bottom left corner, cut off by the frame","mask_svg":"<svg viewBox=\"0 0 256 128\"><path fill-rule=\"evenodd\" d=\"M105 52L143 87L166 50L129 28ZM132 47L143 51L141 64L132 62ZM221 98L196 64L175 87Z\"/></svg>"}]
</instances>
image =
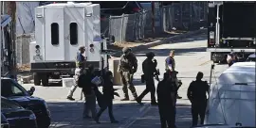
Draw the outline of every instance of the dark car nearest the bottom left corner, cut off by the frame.
<instances>
[{"instance_id":1,"label":"dark car nearest the bottom left corner, cut off by the frame","mask_svg":"<svg viewBox=\"0 0 256 128\"><path fill-rule=\"evenodd\" d=\"M31 110L24 109L7 98L1 97L1 122L4 128L37 128L36 117ZM3 125L2 125L3 124Z\"/></svg>"}]
</instances>

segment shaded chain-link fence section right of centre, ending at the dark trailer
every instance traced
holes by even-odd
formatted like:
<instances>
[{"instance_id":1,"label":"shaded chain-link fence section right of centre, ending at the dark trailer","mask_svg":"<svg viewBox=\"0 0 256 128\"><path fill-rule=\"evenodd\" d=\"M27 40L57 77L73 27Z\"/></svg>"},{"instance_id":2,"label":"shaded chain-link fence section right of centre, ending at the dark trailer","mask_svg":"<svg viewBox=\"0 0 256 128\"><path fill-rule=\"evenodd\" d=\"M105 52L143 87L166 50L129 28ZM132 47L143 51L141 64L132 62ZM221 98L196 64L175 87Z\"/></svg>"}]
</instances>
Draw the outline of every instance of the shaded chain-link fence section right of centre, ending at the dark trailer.
<instances>
[{"instance_id":1,"label":"shaded chain-link fence section right of centre, ending at the dark trailer","mask_svg":"<svg viewBox=\"0 0 256 128\"><path fill-rule=\"evenodd\" d=\"M207 24L207 2L183 2L163 7L163 30L192 30Z\"/></svg>"}]
</instances>

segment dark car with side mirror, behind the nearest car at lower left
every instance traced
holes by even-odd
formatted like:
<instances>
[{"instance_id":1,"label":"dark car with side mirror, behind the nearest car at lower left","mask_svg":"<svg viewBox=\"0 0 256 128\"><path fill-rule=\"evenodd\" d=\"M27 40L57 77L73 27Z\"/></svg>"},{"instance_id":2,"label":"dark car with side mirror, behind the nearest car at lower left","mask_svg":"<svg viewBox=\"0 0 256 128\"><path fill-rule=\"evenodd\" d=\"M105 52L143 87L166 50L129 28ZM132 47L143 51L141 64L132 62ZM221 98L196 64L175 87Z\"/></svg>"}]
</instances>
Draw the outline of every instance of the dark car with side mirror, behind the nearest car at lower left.
<instances>
[{"instance_id":1,"label":"dark car with side mirror, behind the nearest car at lower left","mask_svg":"<svg viewBox=\"0 0 256 128\"><path fill-rule=\"evenodd\" d=\"M38 127L46 128L50 125L50 111L45 100L32 96L34 91L34 87L26 90L10 78L2 77L1 79L1 96L33 111Z\"/></svg>"}]
</instances>

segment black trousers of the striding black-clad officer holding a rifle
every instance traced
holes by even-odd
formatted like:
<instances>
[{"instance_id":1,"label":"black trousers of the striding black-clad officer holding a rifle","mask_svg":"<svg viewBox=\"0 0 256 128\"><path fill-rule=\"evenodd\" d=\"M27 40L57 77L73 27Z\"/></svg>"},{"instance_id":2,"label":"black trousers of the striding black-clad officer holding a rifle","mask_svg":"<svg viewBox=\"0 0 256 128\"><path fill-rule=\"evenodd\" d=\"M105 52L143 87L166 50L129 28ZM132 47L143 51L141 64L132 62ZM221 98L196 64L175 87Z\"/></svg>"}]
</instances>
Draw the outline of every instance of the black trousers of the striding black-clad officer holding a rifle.
<instances>
[{"instance_id":1,"label":"black trousers of the striding black-clad officer holding a rifle","mask_svg":"<svg viewBox=\"0 0 256 128\"><path fill-rule=\"evenodd\" d=\"M138 100L142 100L147 93L151 93L151 103L155 103L155 82L154 77L146 80L146 89L137 97Z\"/></svg>"}]
</instances>

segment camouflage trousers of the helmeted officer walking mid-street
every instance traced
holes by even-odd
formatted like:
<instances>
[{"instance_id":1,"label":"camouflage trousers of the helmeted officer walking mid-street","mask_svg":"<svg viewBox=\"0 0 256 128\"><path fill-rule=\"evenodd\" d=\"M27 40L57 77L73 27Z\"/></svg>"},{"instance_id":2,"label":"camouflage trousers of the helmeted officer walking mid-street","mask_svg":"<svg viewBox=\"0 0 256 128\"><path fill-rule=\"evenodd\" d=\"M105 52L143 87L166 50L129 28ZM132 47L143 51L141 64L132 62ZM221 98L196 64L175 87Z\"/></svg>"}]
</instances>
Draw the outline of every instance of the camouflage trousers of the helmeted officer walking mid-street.
<instances>
[{"instance_id":1,"label":"camouflage trousers of the helmeted officer walking mid-street","mask_svg":"<svg viewBox=\"0 0 256 128\"><path fill-rule=\"evenodd\" d=\"M122 91L124 93L124 97L129 98L129 95L128 95L128 88L129 88L133 93L133 96L137 98L136 88L133 84L133 77L134 77L133 74L131 74L130 72L122 72L120 75L121 75Z\"/></svg>"}]
</instances>

